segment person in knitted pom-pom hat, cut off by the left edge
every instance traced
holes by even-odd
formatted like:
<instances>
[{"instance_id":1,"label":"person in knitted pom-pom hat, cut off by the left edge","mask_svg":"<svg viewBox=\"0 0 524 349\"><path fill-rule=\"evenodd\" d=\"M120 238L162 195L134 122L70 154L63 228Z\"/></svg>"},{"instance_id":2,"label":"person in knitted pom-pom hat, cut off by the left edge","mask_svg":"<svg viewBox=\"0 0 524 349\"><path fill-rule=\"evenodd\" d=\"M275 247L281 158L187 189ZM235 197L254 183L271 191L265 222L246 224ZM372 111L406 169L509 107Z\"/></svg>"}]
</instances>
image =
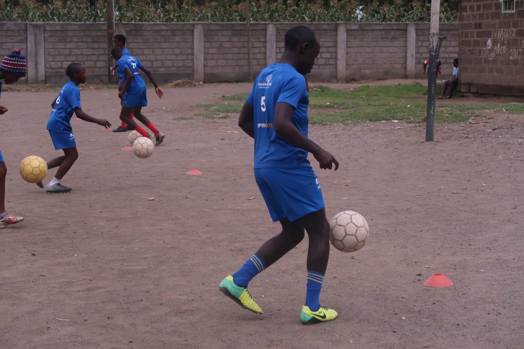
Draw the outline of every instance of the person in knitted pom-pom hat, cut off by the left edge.
<instances>
[{"instance_id":1,"label":"person in knitted pom-pom hat, cut off by the left edge","mask_svg":"<svg viewBox=\"0 0 524 349\"><path fill-rule=\"evenodd\" d=\"M0 62L0 80L4 80L6 85L16 83L20 77L26 76L27 62L25 56L21 55L20 49L11 50L2 62ZM0 95L2 94L2 83L0 83ZM4 115L9 109L0 105L0 115ZM5 210L5 177L7 175L7 166L4 162L4 156L0 150L0 229L16 224L24 220L24 217L9 215Z\"/></svg>"}]
</instances>

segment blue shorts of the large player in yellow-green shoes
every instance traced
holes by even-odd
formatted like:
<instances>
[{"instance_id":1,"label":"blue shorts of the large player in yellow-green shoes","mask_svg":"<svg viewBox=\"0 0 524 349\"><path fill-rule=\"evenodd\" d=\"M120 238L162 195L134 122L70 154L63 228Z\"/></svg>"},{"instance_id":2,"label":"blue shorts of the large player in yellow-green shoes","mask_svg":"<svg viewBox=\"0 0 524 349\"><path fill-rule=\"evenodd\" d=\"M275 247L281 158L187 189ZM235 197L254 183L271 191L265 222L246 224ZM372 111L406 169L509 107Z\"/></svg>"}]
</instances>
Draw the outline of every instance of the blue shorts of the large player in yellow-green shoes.
<instances>
[{"instance_id":1,"label":"blue shorts of the large player in yellow-green shoes","mask_svg":"<svg viewBox=\"0 0 524 349\"><path fill-rule=\"evenodd\" d=\"M313 168L255 168L255 180L271 219L293 222L324 208L319 179Z\"/></svg>"}]
</instances>

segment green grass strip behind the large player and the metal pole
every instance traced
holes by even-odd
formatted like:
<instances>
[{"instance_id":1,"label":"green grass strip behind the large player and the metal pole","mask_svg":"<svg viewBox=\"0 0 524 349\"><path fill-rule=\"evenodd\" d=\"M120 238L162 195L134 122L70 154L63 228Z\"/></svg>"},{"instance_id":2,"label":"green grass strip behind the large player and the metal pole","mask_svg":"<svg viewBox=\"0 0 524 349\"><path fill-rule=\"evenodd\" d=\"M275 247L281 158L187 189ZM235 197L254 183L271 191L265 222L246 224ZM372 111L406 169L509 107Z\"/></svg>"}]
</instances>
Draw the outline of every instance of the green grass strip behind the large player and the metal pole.
<instances>
[{"instance_id":1,"label":"green grass strip behind the large player and the metal pole","mask_svg":"<svg viewBox=\"0 0 524 349\"><path fill-rule=\"evenodd\" d=\"M326 86L312 86L309 92L309 122L320 125L333 123L405 120L421 122L426 114L426 86L419 83L394 86L361 86L352 91L340 91ZM223 96L224 103L203 104L206 117L238 116L247 94ZM436 122L464 122L473 116L486 117L488 112L524 114L520 103L471 104L439 103L436 101Z\"/></svg>"}]
</instances>

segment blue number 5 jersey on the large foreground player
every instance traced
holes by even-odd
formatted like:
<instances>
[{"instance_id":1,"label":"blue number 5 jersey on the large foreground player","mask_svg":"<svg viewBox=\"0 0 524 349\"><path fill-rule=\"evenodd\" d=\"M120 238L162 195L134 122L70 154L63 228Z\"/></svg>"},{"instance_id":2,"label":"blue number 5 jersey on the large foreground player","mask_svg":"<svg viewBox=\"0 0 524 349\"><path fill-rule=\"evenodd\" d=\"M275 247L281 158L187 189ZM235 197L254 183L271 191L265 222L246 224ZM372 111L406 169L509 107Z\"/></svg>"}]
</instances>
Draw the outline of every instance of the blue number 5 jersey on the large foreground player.
<instances>
[{"instance_id":1,"label":"blue number 5 jersey on the large foreground player","mask_svg":"<svg viewBox=\"0 0 524 349\"><path fill-rule=\"evenodd\" d=\"M246 102L254 108L255 168L310 166L308 152L280 138L273 129L277 103L295 111L291 122L308 137L308 104L305 78L287 63L273 63L256 78Z\"/></svg>"}]
</instances>

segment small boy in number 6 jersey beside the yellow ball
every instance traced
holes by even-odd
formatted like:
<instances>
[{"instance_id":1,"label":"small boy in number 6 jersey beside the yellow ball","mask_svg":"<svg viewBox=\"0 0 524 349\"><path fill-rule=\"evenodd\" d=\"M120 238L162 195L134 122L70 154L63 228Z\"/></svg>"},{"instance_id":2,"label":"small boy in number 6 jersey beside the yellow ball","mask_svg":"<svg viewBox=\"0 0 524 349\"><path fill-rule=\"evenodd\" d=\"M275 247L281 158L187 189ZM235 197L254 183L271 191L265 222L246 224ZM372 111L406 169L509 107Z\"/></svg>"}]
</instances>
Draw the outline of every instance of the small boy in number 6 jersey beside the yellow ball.
<instances>
[{"instance_id":1,"label":"small boy in number 6 jersey beside the yellow ball","mask_svg":"<svg viewBox=\"0 0 524 349\"><path fill-rule=\"evenodd\" d=\"M71 128L73 113L84 121L94 122L105 128L111 127L109 121L93 118L82 110L78 85L85 83L87 79L85 67L80 63L71 63L65 70L65 74L71 80L62 87L58 96L51 103L53 110L46 127L53 141L54 149L62 149L64 152L63 156L56 157L47 163L49 169L58 167L57 173L46 186L46 192L50 194L71 192L71 188L61 185L60 181L78 159L77 142ZM38 182L37 185L43 188L42 182Z\"/></svg>"}]
</instances>

